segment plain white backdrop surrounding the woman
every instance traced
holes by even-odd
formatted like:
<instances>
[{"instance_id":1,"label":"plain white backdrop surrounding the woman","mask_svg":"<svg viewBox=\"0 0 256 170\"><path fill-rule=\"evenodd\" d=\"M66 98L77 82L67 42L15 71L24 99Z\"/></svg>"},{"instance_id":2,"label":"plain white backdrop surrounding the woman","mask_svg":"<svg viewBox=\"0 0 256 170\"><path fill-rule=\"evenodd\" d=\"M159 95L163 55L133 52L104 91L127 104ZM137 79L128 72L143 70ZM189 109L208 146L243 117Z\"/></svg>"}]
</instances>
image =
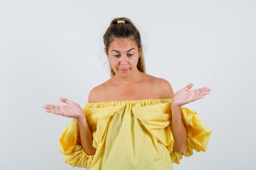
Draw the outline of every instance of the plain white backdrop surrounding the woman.
<instances>
[{"instance_id":1,"label":"plain white backdrop surrounding the woman","mask_svg":"<svg viewBox=\"0 0 256 170\"><path fill-rule=\"evenodd\" d=\"M256 1L0 1L0 169L68 170L58 138L71 118L46 113L59 97L83 107L110 78L103 34L116 17L139 29L146 73L174 92L211 94L185 105L213 130L207 152L175 170L255 170Z\"/></svg>"}]
</instances>

